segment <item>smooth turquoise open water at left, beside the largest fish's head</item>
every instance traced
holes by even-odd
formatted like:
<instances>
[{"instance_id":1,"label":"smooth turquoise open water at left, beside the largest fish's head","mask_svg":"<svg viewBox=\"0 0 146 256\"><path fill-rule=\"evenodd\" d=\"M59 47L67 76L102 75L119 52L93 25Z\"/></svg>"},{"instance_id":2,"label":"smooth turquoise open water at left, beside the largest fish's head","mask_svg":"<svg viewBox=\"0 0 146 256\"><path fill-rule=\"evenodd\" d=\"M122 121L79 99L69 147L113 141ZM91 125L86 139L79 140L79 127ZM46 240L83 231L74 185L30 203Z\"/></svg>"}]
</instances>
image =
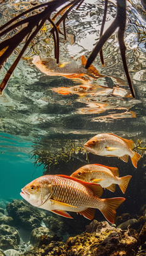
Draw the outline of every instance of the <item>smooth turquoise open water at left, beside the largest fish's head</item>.
<instances>
[{"instance_id":1,"label":"smooth turquoise open water at left, beside the largest fish's head","mask_svg":"<svg viewBox=\"0 0 146 256\"><path fill-rule=\"evenodd\" d=\"M0 198L22 199L21 189L31 180L42 175L43 166L38 168L34 166L34 159L31 159L29 154L33 150L32 142L27 141L26 138L1 133L0 143Z\"/></svg>"}]
</instances>

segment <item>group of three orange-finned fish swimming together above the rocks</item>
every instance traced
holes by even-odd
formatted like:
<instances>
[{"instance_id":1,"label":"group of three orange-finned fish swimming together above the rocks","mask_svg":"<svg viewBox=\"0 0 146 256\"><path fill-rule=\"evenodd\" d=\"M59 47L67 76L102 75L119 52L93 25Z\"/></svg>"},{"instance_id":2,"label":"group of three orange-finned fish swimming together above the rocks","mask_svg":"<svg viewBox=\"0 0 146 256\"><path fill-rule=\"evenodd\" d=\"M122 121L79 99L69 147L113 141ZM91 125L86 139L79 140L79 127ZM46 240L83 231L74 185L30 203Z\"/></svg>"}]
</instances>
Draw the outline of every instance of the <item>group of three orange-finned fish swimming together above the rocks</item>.
<instances>
[{"instance_id":1,"label":"group of three orange-finned fish swimming together above the rocks","mask_svg":"<svg viewBox=\"0 0 146 256\"><path fill-rule=\"evenodd\" d=\"M133 152L133 141L125 140L115 134L105 133L94 136L85 143L84 148L100 156L117 156L123 161L131 157L137 168L140 155ZM87 164L67 175L44 175L27 184L20 195L30 204L52 211L66 218L72 218L68 211L77 212L92 220L95 209L99 209L106 220L114 223L116 209L125 198L101 198L103 188L115 191L118 184L125 193L131 175L119 177L116 167L101 164Z\"/></svg>"}]
</instances>

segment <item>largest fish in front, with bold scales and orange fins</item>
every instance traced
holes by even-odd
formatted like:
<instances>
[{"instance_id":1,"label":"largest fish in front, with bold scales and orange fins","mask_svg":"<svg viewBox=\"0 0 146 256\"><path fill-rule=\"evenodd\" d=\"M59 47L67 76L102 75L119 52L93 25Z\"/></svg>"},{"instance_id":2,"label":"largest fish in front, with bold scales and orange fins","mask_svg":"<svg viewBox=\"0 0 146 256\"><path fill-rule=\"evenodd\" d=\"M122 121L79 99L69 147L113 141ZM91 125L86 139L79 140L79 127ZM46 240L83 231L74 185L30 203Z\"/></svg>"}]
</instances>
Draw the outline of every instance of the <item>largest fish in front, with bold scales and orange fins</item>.
<instances>
[{"instance_id":1,"label":"largest fish in front, with bold scales and orange fins","mask_svg":"<svg viewBox=\"0 0 146 256\"><path fill-rule=\"evenodd\" d=\"M20 195L31 205L72 218L67 211L77 212L92 220L95 208L114 223L116 209L125 198L101 199L103 188L67 175L44 175L21 189Z\"/></svg>"}]
</instances>

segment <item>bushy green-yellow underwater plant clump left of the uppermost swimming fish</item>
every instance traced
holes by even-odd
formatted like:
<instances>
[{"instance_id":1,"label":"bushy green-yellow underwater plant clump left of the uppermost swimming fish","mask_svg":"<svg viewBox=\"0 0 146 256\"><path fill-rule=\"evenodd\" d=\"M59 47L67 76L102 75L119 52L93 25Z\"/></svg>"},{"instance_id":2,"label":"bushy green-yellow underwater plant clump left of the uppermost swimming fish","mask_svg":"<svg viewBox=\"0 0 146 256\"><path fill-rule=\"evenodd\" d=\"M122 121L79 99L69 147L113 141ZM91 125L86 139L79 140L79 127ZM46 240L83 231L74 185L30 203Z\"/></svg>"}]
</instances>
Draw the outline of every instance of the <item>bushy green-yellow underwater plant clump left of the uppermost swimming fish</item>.
<instances>
[{"instance_id":1,"label":"bushy green-yellow underwater plant clump left of the uppermost swimming fish","mask_svg":"<svg viewBox=\"0 0 146 256\"><path fill-rule=\"evenodd\" d=\"M53 140L50 140L48 145L53 143ZM42 144L43 145L43 144ZM48 150L48 148L36 148L34 147L33 150L33 156L35 161L34 161L34 166L40 166L43 164L43 174L46 175L50 172L55 173L61 173L62 171L64 172L64 169L66 167L69 168L69 170L72 170L73 168L73 162L75 161L77 164L77 161L79 163L85 162L89 163L88 156L87 156L87 151L82 148L82 147L77 147L75 145L75 141L68 140L66 141L66 147L62 147L62 150L58 151L53 151L53 150ZM65 173L64 173L65 174Z\"/></svg>"}]
</instances>

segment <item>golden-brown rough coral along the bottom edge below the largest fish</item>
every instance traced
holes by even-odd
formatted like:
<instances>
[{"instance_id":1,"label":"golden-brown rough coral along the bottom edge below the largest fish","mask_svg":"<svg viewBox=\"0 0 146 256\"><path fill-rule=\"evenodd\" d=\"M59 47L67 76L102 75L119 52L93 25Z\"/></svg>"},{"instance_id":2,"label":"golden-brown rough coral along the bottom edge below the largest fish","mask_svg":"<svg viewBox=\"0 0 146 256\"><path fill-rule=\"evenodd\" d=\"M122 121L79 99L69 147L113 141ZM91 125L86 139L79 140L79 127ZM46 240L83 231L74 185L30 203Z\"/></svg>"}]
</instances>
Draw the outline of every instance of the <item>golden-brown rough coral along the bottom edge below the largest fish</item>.
<instances>
[{"instance_id":1,"label":"golden-brown rough coral along the bottom edge below the largest fish","mask_svg":"<svg viewBox=\"0 0 146 256\"><path fill-rule=\"evenodd\" d=\"M138 252L140 239L136 230L117 230L107 221L96 220L86 229L91 234L84 232L69 237L66 244L57 235L40 236L34 248L22 256L134 256Z\"/></svg>"}]
</instances>

